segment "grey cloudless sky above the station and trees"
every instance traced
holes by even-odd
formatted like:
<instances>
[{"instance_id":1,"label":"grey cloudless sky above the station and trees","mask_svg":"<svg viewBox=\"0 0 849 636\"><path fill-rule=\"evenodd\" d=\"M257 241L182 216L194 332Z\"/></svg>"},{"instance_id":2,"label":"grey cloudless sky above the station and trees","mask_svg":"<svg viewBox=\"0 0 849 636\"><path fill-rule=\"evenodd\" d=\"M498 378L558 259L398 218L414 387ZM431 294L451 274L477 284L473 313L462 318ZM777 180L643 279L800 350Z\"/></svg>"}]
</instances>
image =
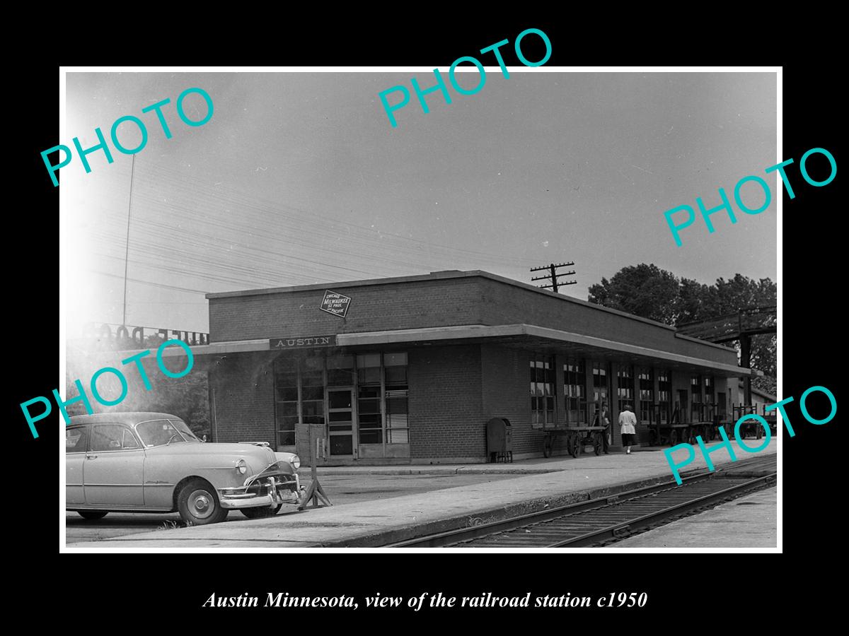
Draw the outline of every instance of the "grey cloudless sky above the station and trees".
<instances>
[{"instance_id":1,"label":"grey cloudless sky above the station and trees","mask_svg":"<svg viewBox=\"0 0 849 636\"><path fill-rule=\"evenodd\" d=\"M68 73L60 143L94 146L127 114L149 135L134 165L110 141L114 163L95 151L91 173L76 154L59 171L69 337L123 321L125 265L127 324L190 332L208 331L204 293L441 270L531 282L532 267L574 261L561 292L582 299L638 263L776 279L774 73L509 73L487 67L450 104L430 93L428 114L410 87L432 86L427 71ZM378 94L398 85L411 100L393 128ZM177 116L190 87L214 104L203 126ZM165 98L170 139L141 112ZM197 94L184 107L206 113ZM117 134L141 138L132 122ZM712 215L712 234L698 219L675 244L664 211L713 208L719 187L733 201L749 175L770 184L766 211ZM756 184L742 192L762 204Z\"/></svg>"}]
</instances>

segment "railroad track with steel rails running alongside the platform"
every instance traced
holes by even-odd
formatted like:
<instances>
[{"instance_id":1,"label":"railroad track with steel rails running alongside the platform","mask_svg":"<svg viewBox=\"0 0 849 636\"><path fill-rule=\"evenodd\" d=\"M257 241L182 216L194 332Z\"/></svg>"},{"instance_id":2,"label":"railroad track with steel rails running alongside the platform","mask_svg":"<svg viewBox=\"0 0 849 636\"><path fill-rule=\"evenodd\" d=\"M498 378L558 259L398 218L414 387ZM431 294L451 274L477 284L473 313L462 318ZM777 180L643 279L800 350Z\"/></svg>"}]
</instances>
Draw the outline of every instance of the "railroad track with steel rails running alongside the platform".
<instances>
[{"instance_id":1,"label":"railroad track with steel rails running alongside the platform","mask_svg":"<svg viewBox=\"0 0 849 636\"><path fill-rule=\"evenodd\" d=\"M752 477L751 471L758 476ZM763 474L766 472L767 474ZM413 538L390 548L561 548L615 542L775 483L774 460L704 471L601 499Z\"/></svg>"}]
</instances>

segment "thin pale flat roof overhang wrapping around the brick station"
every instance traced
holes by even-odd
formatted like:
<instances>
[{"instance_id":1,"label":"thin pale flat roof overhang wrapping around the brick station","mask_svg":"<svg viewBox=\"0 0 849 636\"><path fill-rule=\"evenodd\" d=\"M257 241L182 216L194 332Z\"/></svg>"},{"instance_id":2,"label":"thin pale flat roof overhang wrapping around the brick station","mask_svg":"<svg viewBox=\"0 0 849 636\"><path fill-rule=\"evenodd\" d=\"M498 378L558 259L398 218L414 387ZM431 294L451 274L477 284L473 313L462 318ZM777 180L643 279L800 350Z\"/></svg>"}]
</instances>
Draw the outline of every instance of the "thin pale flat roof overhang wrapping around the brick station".
<instances>
[{"instance_id":1,"label":"thin pale flat roof overhang wrapping around the brick station","mask_svg":"<svg viewBox=\"0 0 849 636\"><path fill-rule=\"evenodd\" d=\"M691 338L688 338L691 339ZM536 325L462 325L438 326L420 329L396 329L383 332L357 332L336 334L336 346L368 348L380 345L416 345L435 344L494 343L509 347L532 347L543 351L567 349L571 354L593 354L603 358L630 358L634 361L663 360L672 367L701 367L710 369L725 377L759 376L761 371L745 369L737 365L728 365L713 360L695 358L689 355L674 354L661 349L650 349L616 340L596 338L581 333L564 332L559 329ZM704 343L706 346L716 346ZM272 352L269 339L239 340L222 343L196 345L191 348L196 356L239 354L268 351ZM727 349L721 347L720 349ZM295 351L314 349L290 349ZM166 356L185 355L179 347L168 347L163 351Z\"/></svg>"}]
</instances>

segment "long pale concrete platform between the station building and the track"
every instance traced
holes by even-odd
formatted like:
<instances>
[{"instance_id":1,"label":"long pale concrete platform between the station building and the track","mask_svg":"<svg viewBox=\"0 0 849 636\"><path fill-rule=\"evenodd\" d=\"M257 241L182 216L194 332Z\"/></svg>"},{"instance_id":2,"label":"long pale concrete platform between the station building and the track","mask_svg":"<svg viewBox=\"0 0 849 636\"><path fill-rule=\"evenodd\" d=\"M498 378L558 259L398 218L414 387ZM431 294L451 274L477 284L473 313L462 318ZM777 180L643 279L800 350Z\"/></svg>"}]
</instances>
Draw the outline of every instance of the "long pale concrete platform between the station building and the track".
<instances>
[{"instance_id":1,"label":"long pale concrete platform between the station building and the track","mask_svg":"<svg viewBox=\"0 0 849 636\"><path fill-rule=\"evenodd\" d=\"M750 441L750 445L754 440ZM739 460L775 454L777 440L767 449L751 454L738 449ZM335 505L301 512L282 512L269 519L245 520L210 526L160 530L127 535L106 541L70 545L69 551L84 550L193 550L245 548L377 547L424 533L436 533L477 525L520 513L566 505L615 494L631 488L672 479L662 448L633 449L632 455L581 455L577 459L551 458L517 462L512 466L545 472L517 473L515 478L444 488L430 493L358 504ZM719 450L711 456L717 467L734 465L728 453ZM418 470L492 470L493 464L470 466L419 466ZM507 465L511 466L511 465ZM359 466L340 467L344 470ZM398 466L363 466L374 471ZM408 467L413 470L413 467ZM688 466L691 471L705 468L700 453ZM332 469L322 468L318 478ZM304 471L308 478L309 471Z\"/></svg>"}]
</instances>

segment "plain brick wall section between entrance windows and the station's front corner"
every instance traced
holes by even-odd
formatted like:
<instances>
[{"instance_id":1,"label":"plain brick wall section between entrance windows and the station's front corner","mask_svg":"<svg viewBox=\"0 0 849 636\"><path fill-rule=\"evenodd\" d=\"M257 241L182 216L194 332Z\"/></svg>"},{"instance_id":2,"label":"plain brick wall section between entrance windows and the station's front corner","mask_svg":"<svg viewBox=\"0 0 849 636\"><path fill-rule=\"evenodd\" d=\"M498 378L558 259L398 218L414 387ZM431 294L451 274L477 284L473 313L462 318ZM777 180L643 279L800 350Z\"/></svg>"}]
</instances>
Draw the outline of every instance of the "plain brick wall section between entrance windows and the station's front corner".
<instances>
[{"instance_id":1,"label":"plain brick wall section between entrance windows and the station's front corner","mask_svg":"<svg viewBox=\"0 0 849 636\"><path fill-rule=\"evenodd\" d=\"M481 417L481 348L475 345L408 350L410 456L486 455Z\"/></svg>"}]
</instances>

